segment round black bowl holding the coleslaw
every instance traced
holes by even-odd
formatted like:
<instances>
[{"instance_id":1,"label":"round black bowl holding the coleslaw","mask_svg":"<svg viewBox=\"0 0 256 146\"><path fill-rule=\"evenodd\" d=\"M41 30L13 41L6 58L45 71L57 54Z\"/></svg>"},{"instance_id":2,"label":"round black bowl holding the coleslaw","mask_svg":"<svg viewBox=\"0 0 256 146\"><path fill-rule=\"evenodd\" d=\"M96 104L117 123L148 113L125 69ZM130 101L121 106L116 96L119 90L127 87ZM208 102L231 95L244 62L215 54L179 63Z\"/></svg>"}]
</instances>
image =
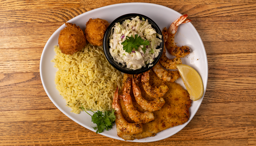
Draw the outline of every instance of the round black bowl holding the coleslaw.
<instances>
[{"instance_id":1,"label":"round black bowl holding the coleslaw","mask_svg":"<svg viewBox=\"0 0 256 146\"><path fill-rule=\"evenodd\" d=\"M109 49L110 49L110 45L109 45L109 37L110 37L110 34L111 32L113 31L113 27L114 25L119 22L119 23L123 23L124 20L126 19L130 19L131 18L135 18L139 16L140 17L140 20L142 20L142 18L145 18L148 19L148 22L149 24L151 24L152 28L154 28L156 30L156 33L162 35L162 32L161 32L161 29L158 27L158 25L156 25L156 23L151 20L149 17L147 16L144 16L144 15L141 15L141 14L137 14L137 13L129 13L129 14L126 14L126 15L122 15L118 18L116 18L111 24L110 26L108 26L106 32L105 32L105 35L104 35L104 38L103 38L103 50L104 50L104 54L108 60L108 62L114 67L116 68L117 70L125 73L125 74L141 74L143 72L146 72L148 70L150 70L154 65L156 65L156 63L158 63L161 55L162 55L162 52L163 52L163 49L161 49L161 51L159 52L159 55L157 58L154 59L153 63L153 66L150 66L148 67L150 64L147 64L145 67L142 67L140 69L137 69L137 70L132 70L132 69L128 69L126 66L123 66L122 64L119 64L117 63L116 61L113 60L110 52L109 52ZM160 43L160 45L157 47L157 49L159 48L163 48L164 47L164 40L163 40L163 37L162 38L159 38L162 40L162 42Z\"/></svg>"}]
</instances>

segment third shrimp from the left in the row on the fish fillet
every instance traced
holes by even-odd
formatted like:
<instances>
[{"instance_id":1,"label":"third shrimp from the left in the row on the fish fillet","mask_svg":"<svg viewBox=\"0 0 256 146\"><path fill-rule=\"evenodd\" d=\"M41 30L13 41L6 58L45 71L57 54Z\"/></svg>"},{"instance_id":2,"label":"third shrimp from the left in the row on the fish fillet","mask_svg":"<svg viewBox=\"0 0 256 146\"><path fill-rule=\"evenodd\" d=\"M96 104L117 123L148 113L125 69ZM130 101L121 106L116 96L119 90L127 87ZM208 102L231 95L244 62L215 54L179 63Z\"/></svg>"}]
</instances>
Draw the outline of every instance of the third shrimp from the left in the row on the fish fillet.
<instances>
[{"instance_id":1,"label":"third shrimp from the left in the row on the fish fillet","mask_svg":"<svg viewBox=\"0 0 256 146\"><path fill-rule=\"evenodd\" d=\"M137 86L137 82L133 78L133 95L137 101L137 103L145 110L154 112L155 110L161 109L162 106L164 106L165 101L164 98L156 98L154 101L147 101L142 97L142 94L140 92L140 88Z\"/></svg>"}]
</instances>

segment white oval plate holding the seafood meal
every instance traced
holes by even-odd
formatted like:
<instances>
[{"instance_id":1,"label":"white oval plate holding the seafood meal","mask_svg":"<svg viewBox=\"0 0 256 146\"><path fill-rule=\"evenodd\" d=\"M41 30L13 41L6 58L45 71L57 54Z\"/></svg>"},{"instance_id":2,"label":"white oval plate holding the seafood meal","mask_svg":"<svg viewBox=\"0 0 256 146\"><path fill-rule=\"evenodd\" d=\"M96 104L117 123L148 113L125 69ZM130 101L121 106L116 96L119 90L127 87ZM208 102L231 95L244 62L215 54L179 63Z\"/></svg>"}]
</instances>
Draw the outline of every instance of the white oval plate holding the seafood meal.
<instances>
[{"instance_id":1,"label":"white oval plate holding the seafood meal","mask_svg":"<svg viewBox=\"0 0 256 146\"><path fill-rule=\"evenodd\" d=\"M140 13L142 15L146 15L150 17L153 21L155 21L160 29L164 27L169 28L172 22L174 22L178 17L181 16L180 13L161 5L150 4L150 3L123 3L101 7L95 10L91 10L89 12L85 12L75 18L69 20L70 23L75 23L77 26L80 26L82 30L85 29L85 24L90 18L102 18L111 23L117 17L127 14L127 13ZM189 16L188 16L189 18ZM60 96L58 90L55 88L55 73L57 69L54 66L54 63L50 62L54 59L54 45L58 45L58 37L60 31L65 27L65 24L60 26L60 28L55 31L52 36L47 41L40 60L40 76L43 83L44 90L49 96L50 100L54 103L54 105L62 111L66 116L70 119L74 120L76 123L84 126L87 129L92 131L96 131L92 128L95 126L91 122L91 117L85 112L81 112L80 114L70 113L71 108L66 107L65 99ZM208 79L208 62L206 51L204 49L203 42L192 25L192 23L182 24L178 27L178 32L175 36L175 42L178 46L187 45L191 48L191 54L187 55L185 58L182 58L182 63L190 65L193 67L199 75L201 75L203 85L204 85L204 93L206 91L207 79ZM167 54L170 57L170 54ZM183 88L185 88L181 79L176 81ZM204 94L203 94L204 96ZM184 128L188 122L194 117L199 106L201 105L203 97L196 102L192 102L192 106L190 107L190 119L183 125L179 125L173 128L169 128L167 130L161 131L156 134L154 137L147 137L145 139L133 140L134 142L152 142L165 139L176 134L182 128ZM111 137L113 139L123 140L117 136L116 125L109 131L104 131L101 133L107 137Z\"/></svg>"}]
</instances>

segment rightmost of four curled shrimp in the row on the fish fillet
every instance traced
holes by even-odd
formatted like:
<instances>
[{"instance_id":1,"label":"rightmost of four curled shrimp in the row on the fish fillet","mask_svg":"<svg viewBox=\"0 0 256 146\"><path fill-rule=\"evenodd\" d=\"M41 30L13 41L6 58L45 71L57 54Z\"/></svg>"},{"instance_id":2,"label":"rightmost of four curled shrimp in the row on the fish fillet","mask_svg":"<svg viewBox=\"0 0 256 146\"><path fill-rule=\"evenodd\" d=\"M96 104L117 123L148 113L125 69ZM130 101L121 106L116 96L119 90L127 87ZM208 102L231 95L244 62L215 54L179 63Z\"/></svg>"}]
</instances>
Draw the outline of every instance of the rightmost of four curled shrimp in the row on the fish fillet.
<instances>
[{"instance_id":1,"label":"rightmost of four curled shrimp in the row on the fish fillet","mask_svg":"<svg viewBox=\"0 0 256 146\"><path fill-rule=\"evenodd\" d=\"M159 87L155 86L153 88L149 84L149 71L144 72L142 77L141 77L142 86L143 86L145 92L149 96L154 97L154 98L159 98L159 97L164 96L164 94L169 90L169 88L164 83L162 83Z\"/></svg>"}]
</instances>

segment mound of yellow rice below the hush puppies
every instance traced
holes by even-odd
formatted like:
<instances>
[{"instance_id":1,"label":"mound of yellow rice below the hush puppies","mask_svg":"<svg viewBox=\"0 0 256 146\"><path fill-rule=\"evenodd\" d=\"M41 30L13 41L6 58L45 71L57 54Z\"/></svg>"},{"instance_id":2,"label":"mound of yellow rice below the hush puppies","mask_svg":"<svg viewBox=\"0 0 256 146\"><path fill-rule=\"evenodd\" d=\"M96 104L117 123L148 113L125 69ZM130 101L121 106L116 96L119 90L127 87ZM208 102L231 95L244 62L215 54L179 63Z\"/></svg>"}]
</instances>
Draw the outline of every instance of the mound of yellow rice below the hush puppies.
<instances>
[{"instance_id":1,"label":"mound of yellow rice below the hush puppies","mask_svg":"<svg viewBox=\"0 0 256 146\"><path fill-rule=\"evenodd\" d=\"M87 44L73 55L61 53L59 46L54 67L56 88L66 100L71 112L79 114L82 109L110 110L116 87L121 87L123 76L105 58L102 47Z\"/></svg>"}]
</instances>

